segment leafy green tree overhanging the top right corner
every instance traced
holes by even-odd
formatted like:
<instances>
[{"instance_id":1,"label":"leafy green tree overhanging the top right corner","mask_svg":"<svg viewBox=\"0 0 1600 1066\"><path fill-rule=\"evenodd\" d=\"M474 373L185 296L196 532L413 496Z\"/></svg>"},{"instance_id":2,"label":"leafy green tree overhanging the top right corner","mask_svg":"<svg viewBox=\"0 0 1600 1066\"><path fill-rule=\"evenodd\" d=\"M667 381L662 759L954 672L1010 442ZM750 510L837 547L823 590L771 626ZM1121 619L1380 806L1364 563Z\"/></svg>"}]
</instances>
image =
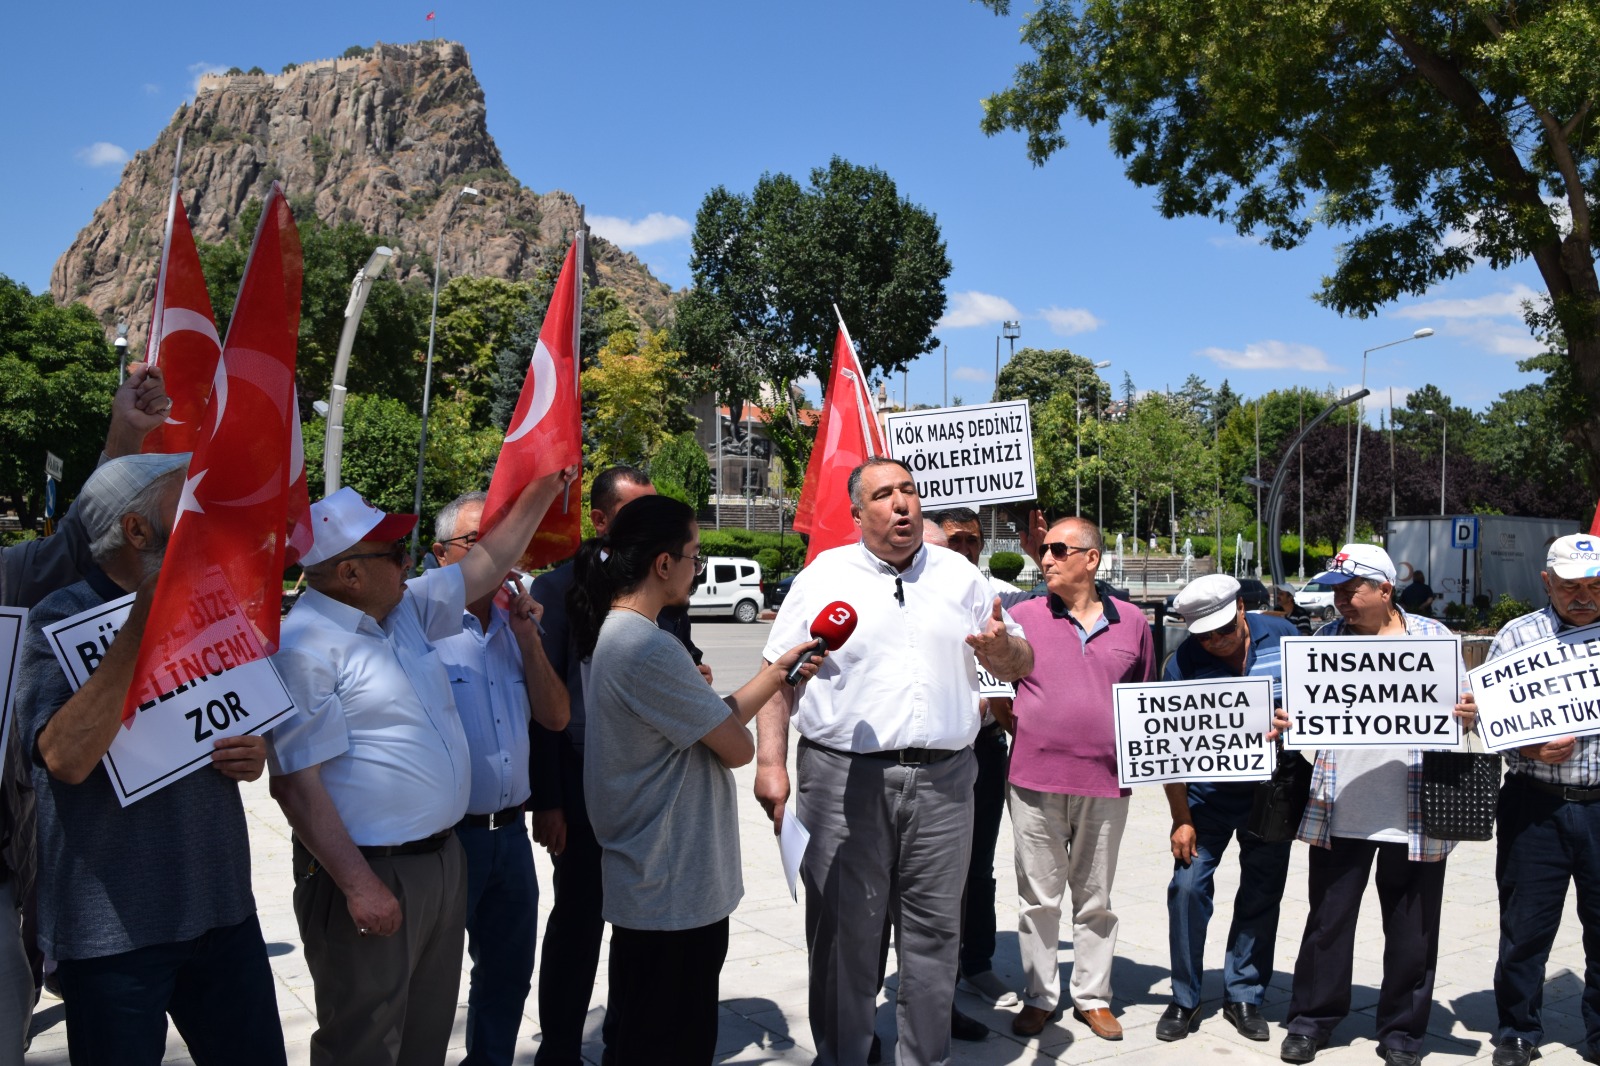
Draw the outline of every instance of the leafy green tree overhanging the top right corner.
<instances>
[{"instance_id":1,"label":"leafy green tree overhanging the top right corner","mask_svg":"<svg viewBox=\"0 0 1600 1066\"><path fill-rule=\"evenodd\" d=\"M1341 314L1533 259L1600 483L1594 3L1040 0L1022 38L1035 58L984 101L984 131L1022 131L1043 163L1066 115L1106 122L1168 218L1274 248L1346 232L1317 296Z\"/></svg>"}]
</instances>

